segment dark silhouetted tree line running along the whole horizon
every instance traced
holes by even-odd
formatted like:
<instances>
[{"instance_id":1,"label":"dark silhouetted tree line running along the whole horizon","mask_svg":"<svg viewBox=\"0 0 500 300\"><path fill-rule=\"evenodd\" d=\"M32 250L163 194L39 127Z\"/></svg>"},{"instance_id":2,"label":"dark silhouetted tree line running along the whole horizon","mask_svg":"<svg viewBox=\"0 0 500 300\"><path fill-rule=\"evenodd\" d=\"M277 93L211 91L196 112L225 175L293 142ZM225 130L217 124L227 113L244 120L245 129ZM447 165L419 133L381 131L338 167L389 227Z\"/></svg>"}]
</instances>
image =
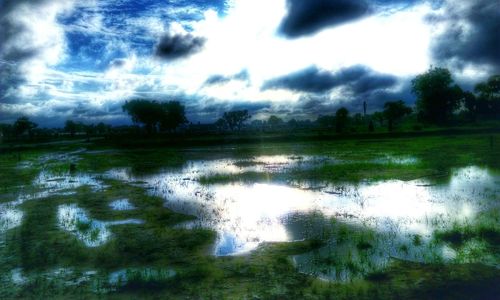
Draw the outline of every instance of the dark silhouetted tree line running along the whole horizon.
<instances>
[{"instance_id":1,"label":"dark silhouetted tree line running along the whole horizon","mask_svg":"<svg viewBox=\"0 0 500 300\"><path fill-rule=\"evenodd\" d=\"M374 131L375 127L394 130L403 119L411 117L415 124L449 125L453 121L474 122L477 120L500 120L500 75L494 75L485 82L477 84L473 91L464 91L455 83L451 72L446 68L430 68L412 80L412 92L416 96L414 107L403 100L388 101L382 111L367 114L367 103L363 103L363 114L351 114L345 107L333 115L319 116L315 121L291 119L285 122L276 115L266 120L251 119L248 110L234 110L224 114L213 124L187 125L186 109L178 101L160 102L136 99L122 106L134 122L134 126L111 127L104 123L83 124L67 120L62 130L39 128L38 124L23 116L13 124L0 124L0 136L20 137L67 134L70 136L104 135L111 132L137 131L143 128L146 134L174 132L180 126L188 130L201 128L206 131L240 131L243 128L254 130L280 130L297 128L330 128L338 133L366 126ZM415 125L415 128L421 125Z\"/></svg>"}]
</instances>

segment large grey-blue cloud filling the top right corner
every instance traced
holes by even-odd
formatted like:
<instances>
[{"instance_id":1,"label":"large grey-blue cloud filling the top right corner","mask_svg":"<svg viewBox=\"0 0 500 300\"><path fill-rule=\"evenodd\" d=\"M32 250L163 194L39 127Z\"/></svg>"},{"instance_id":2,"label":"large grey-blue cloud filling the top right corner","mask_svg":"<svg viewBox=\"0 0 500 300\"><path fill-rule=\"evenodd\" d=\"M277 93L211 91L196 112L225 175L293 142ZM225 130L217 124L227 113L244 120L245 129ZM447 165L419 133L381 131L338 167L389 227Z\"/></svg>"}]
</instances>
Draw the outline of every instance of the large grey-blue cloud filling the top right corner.
<instances>
[{"instance_id":1,"label":"large grey-blue cloud filling the top right corner","mask_svg":"<svg viewBox=\"0 0 500 300\"><path fill-rule=\"evenodd\" d=\"M444 13L429 21L444 25L432 45L437 62L458 68L485 65L500 72L500 1L448 1Z\"/></svg>"}]
</instances>

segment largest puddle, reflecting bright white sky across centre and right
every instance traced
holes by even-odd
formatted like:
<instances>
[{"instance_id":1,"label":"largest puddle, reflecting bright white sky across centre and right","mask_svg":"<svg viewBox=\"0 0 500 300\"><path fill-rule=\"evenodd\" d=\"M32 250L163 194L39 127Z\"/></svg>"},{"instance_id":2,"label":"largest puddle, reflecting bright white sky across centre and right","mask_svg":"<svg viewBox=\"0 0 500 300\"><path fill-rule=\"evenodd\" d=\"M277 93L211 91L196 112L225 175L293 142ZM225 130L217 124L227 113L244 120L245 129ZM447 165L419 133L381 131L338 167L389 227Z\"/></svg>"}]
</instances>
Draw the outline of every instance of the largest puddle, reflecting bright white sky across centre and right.
<instances>
[{"instance_id":1,"label":"largest puddle, reflecting bright white sky across centre and right","mask_svg":"<svg viewBox=\"0 0 500 300\"><path fill-rule=\"evenodd\" d=\"M237 255L254 250L263 242L287 242L313 238L311 222L295 222L294 215L319 213L358 232L375 232L369 242L351 241L342 247L335 236L327 236L327 246L316 253L294 257L299 270L319 277L347 280L385 267L391 259L419 262L457 261L459 254L446 244L432 242L437 229L473 220L494 206L500 194L498 175L486 168L467 167L452 172L443 183L428 180L379 181L359 184L274 184L230 183L202 185L198 179L211 174L239 174L248 171L282 172L308 168L316 163L335 163L318 157L291 158L265 156L249 160L189 162L179 171L134 176L126 169L107 176L140 183L165 206L198 217L182 227L205 227L218 233L214 255ZM411 157L383 158L413 164ZM293 223L293 222L292 222ZM330 222L331 223L331 222ZM301 224L298 226L298 224ZM323 225L335 230L334 225ZM309 228L309 229L308 229ZM324 239L324 237L323 237ZM353 244L353 243L356 244ZM355 249L353 251L352 249ZM358 251L359 250L359 251ZM351 257L328 267L328 257ZM314 261L321 262L321 268ZM481 261L481 258L477 259ZM350 262L349 262L350 261ZM498 265L498 263L496 263Z\"/></svg>"}]
</instances>

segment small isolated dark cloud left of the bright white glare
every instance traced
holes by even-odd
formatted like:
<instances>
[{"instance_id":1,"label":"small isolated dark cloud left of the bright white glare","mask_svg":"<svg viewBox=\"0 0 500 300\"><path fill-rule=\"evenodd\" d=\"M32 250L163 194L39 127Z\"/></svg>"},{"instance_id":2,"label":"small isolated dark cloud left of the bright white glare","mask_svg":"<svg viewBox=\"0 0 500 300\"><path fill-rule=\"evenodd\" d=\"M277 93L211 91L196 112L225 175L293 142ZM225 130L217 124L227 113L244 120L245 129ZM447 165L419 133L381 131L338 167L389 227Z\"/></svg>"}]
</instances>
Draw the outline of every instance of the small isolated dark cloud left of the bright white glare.
<instances>
[{"instance_id":1,"label":"small isolated dark cloud left of the bright white glare","mask_svg":"<svg viewBox=\"0 0 500 300\"><path fill-rule=\"evenodd\" d=\"M192 34L167 33L160 38L156 45L156 56L164 59L175 60L188 57L199 52L205 45L206 39Z\"/></svg>"}]
</instances>

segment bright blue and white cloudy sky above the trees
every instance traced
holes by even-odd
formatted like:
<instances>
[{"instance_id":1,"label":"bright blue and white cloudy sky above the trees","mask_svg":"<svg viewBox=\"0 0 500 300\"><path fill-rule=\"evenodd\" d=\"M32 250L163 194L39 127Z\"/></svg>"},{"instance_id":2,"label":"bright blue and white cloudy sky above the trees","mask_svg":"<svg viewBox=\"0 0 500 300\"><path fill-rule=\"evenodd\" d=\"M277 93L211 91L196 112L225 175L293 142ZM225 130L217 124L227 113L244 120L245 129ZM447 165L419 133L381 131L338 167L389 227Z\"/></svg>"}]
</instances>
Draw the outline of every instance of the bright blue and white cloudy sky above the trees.
<instances>
[{"instance_id":1,"label":"bright blue and white cloudy sky above the trees","mask_svg":"<svg viewBox=\"0 0 500 300\"><path fill-rule=\"evenodd\" d=\"M431 66L469 90L500 73L499 31L498 0L0 0L0 123L127 124L131 99L202 123L413 104Z\"/></svg>"}]
</instances>

